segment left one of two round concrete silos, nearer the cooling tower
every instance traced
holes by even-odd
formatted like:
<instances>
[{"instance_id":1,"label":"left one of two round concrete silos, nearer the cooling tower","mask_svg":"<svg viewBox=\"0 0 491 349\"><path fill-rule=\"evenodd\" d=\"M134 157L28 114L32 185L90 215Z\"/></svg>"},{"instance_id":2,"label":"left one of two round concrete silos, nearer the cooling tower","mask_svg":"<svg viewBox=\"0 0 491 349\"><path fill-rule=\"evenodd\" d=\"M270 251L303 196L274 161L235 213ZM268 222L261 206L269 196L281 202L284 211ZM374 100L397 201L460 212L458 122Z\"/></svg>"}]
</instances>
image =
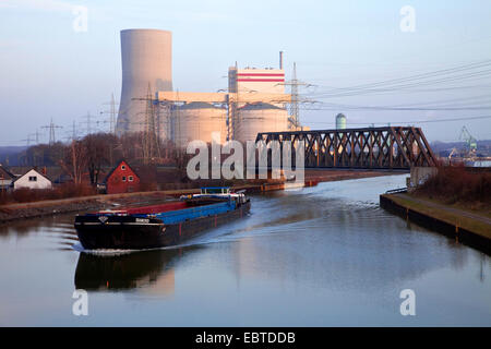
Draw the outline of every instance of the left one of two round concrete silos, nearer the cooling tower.
<instances>
[{"instance_id":1,"label":"left one of two round concrete silos, nearer the cooling tower","mask_svg":"<svg viewBox=\"0 0 491 349\"><path fill-rule=\"evenodd\" d=\"M191 141L225 143L227 110L208 103L193 101L172 108L172 134L177 146L185 148Z\"/></svg>"}]
</instances>

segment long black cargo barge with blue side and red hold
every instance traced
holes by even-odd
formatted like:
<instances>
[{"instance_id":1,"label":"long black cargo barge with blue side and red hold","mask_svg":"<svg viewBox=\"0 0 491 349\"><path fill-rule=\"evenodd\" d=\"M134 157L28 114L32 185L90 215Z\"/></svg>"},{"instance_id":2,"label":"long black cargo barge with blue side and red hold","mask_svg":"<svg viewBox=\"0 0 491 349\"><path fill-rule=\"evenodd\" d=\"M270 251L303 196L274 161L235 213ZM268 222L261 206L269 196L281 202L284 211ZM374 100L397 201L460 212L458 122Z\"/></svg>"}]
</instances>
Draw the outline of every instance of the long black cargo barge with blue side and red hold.
<instances>
[{"instance_id":1,"label":"long black cargo barge with blue side and red hold","mask_svg":"<svg viewBox=\"0 0 491 349\"><path fill-rule=\"evenodd\" d=\"M251 202L229 188L203 188L179 202L77 215L85 250L142 250L177 245L208 228L246 216Z\"/></svg>"}]
</instances>

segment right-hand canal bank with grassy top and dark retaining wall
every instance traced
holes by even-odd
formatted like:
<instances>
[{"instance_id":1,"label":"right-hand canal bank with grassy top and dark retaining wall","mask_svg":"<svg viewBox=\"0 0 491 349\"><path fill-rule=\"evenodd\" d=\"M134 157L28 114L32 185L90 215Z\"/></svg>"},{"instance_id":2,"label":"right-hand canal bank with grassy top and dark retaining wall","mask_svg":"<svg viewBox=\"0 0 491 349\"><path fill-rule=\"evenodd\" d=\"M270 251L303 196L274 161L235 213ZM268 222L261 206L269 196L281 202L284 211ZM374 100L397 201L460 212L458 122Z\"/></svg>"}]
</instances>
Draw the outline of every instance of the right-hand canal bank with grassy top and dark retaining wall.
<instances>
[{"instance_id":1,"label":"right-hand canal bank with grassy top and dark retaining wall","mask_svg":"<svg viewBox=\"0 0 491 349\"><path fill-rule=\"evenodd\" d=\"M403 218L491 254L491 218L483 214L407 193L380 195L380 205Z\"/></svg>"}]
</instances>

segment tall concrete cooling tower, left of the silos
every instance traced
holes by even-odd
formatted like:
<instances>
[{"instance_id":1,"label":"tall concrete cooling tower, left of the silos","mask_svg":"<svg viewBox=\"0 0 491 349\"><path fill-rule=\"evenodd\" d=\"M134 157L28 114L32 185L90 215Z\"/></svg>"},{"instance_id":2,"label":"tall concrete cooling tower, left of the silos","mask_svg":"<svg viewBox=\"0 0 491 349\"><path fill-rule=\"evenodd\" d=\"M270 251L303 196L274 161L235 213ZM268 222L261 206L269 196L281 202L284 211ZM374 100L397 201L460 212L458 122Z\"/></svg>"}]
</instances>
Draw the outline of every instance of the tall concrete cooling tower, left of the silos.
<instances>
[{"instance_id":1,"label":"tall concrete cooling tower, left of the silos","mask_svg":"<svg viewBox=\"0 0 491 349\"><path fill-rule=\"evenodd\" d=\"M140 132L145 128L148 86L172 91L171 32L158 29L121 31L122 87L117 133Z\"/></svg>"}]
</instances>

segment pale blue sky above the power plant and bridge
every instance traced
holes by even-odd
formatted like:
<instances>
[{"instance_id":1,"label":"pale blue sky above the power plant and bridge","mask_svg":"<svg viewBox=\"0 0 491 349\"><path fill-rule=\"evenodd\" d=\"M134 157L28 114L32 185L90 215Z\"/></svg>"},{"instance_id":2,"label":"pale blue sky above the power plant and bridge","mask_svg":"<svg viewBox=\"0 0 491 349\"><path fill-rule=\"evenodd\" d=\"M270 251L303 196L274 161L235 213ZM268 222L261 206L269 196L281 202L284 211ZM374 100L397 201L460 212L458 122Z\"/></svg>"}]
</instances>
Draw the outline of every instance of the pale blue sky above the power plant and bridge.
<instances>
[{"instance_id":1,"label":"pale blue sky above the power plant and bridge","mask_svg":"<svg viewBox=\"0 0 491 349\"><path fill-rule=\"evenodd\" d=\"M490 19L489 0L0 0L0 146L47 142L51 119L59 140L86 132L87 113L108 130L125 28L172 32L175 89L226 88L236 61L277 68L283 50L311 129L343 112L354 128L491 140Z\"/></svg>"}]
</instances>

